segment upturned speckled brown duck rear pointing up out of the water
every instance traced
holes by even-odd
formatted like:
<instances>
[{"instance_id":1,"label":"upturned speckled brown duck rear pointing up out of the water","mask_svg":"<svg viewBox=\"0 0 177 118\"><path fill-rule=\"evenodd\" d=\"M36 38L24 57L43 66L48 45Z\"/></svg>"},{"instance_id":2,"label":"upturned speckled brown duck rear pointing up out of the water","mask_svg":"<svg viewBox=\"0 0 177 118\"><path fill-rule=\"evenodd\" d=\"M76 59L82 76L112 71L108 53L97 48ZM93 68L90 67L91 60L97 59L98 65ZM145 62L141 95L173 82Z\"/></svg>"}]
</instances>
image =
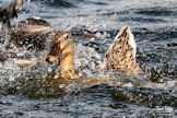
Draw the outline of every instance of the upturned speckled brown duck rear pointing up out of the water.
<instances>
[{"instance_id":1,"label":"upturned speckled brown duck rear pointing up out of the water","mask_svg":"<svg viewBox=\"0 0 177 118\"><path fill-rule=\"evenodd\" d=\"M105 54L102 68L138 74L142 70L135 61L135 56L137 44L134 36L130 31L130 26L123 26Z\"/></svg>"}]
</instances>

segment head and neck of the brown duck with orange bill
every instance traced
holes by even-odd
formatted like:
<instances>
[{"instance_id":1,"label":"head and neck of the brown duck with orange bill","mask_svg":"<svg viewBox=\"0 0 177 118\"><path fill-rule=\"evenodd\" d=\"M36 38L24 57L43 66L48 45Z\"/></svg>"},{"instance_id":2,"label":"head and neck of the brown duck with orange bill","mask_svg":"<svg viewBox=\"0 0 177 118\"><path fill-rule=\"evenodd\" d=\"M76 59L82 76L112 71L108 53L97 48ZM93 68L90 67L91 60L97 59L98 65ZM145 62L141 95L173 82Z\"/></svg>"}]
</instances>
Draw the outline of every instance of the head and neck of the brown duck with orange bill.
<instances>
[{"instance_id":1,"label":"head and neck of the brown duck with orange bill","mask_svg":"<svg viewBox=\"0 0 177 118\"><path fill-rule=\"evenodd\" d=\"M46 61L59 61L64 71L74 70L74 43L67 32L57 32Z\"/></svg>"}]
</instances>

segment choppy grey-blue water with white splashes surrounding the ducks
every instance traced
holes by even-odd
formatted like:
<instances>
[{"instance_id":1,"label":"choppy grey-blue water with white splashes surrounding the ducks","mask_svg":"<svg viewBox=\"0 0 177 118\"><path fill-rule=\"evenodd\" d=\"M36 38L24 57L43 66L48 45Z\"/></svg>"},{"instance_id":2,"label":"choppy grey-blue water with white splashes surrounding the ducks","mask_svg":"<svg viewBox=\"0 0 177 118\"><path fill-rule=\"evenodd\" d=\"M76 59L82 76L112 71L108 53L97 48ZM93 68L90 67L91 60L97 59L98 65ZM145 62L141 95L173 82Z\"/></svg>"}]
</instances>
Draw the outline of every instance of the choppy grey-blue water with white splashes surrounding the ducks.
<instances>
[{"instance_id":1,"label":"choppy grey-blue water with white splashes surrounding the ducks","mask_svg":"<svg viewBox=\"0 0 177 118\"><path fill-rule=\"evenodd\" d=\"M102 38L74 38L75 68L85 76L82 85L47 83L44 63L32 70L21 70L11 60L3 63L0 117L175 118L176 4L175 0L27 0L14 23L37 16L57 30L93 32ZM134 34L143 74L101 70L104 54L123 25ZM157 83L151 85L149 80Z\"/></svg>"}]
</instances>

